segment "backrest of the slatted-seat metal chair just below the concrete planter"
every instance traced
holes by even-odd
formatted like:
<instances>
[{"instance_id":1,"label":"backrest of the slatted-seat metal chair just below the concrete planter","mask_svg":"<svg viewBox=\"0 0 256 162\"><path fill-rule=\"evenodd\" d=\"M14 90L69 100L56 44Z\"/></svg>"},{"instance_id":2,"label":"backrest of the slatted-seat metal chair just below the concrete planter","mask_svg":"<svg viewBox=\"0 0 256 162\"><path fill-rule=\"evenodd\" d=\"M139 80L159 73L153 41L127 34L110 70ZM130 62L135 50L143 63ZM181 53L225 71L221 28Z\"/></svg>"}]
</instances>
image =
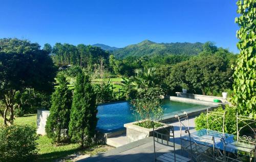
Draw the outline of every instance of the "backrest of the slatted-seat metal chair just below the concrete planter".
<instances>
[{"instance_id":1,"label":"backrest of the slatted-seat metal chair just below the concrete planter","mask_svg":"<svg viewBox=\"0 0 256 162\"><path fill-rule=\"evenodd\" d=\"M155 130L155 124L153 124L153 140L154 140L154 154L156 160L156 146L155 143L159 143L161 145L169 146L174 148L174 158L176 161L175 155L175 138L174 138L174 126L170 125L169 127L160 127L161 129ZM173 142L170 142L170 138L173 138Z\"/></svg>"}]
</instances>

